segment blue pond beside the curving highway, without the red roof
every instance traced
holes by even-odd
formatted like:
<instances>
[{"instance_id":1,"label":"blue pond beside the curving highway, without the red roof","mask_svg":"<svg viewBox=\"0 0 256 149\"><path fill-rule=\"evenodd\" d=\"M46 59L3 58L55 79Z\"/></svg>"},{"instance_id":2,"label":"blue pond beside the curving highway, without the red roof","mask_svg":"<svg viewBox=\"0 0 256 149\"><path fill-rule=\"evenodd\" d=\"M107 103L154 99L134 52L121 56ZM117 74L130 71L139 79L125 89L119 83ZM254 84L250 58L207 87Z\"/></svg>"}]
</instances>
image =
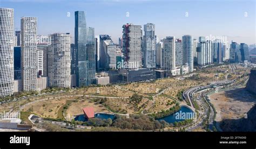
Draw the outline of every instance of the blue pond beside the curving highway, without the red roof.
<instances>
[{"instance_id":1,"label":"blue pond beside the curving highway, without the red roof","mask_svg":"<svg viewBox=\"0 0 256 149\"><path fill-rule=\"evenodd\" d=\"M187 108L187 107L185 107L185 106L181 106L180 107L180 110L179 111L177 111L177 112L185 112L185 113L187 113L187 112L192 112L193 113L193 111L190 109L190 108ZM175 113L177 113L177 112L175 112ZM157 120L165 120L165 122L167 122L167 123L174 123L174 122L180 122L180 121L183 121L183 120L185 120L185 119L176 119L176 115L175 115L175 113L173 113L172 115L169 115L169 116L166 116L166 117L163 117L163 118L159 118L159 119L157 119Z\"/></svg>"}]
</instances>

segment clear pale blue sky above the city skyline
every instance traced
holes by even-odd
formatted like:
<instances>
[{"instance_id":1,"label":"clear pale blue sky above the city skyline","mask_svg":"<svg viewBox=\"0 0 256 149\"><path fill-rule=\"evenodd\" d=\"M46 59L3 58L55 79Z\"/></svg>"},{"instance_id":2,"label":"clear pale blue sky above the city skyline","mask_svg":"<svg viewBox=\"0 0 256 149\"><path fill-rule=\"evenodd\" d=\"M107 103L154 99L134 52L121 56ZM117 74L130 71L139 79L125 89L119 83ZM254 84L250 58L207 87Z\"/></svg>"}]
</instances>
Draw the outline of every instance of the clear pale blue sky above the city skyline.
<instances>
[{"instance_id":1,"label":"clear pale blue sky above the city skyline","mask_svg":"<svg viewBox=\"0 0 256 149\"><path fill-rule=\"evenodd\" d=\"M123 24L154 23L159 38L191 34L197 39L227 36L228 41L256 43L254 0L1 0L0 7L14 8L18 30L21 17L38 17L42 35L70 32L73 37L74 14L81 10L86 11L87 26L95 27L96 35L109 34L115 42L122 36Z\"/></svg>"}]
</instances>

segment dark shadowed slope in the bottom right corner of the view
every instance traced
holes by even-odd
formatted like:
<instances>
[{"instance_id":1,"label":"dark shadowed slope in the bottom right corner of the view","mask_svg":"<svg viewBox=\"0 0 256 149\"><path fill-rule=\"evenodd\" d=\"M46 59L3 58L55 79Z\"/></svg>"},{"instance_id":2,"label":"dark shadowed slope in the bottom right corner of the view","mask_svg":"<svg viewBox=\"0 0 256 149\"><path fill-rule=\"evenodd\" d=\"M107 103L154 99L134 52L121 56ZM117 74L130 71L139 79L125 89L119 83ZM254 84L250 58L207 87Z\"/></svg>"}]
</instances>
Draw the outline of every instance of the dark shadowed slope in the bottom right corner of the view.
<instances>
[{"instance_id":1,"label":"dark shadowed slope in the bottom right corner of the view","mask_svg":"<svg viewBox=\"0 0 256 149\"><path fill-rule=\"evenodd\" d=\"M256 132L256 104L247 112L247 118L224 119L220 123L223 131L254 131Z\"/></svg>"}]
</instances>

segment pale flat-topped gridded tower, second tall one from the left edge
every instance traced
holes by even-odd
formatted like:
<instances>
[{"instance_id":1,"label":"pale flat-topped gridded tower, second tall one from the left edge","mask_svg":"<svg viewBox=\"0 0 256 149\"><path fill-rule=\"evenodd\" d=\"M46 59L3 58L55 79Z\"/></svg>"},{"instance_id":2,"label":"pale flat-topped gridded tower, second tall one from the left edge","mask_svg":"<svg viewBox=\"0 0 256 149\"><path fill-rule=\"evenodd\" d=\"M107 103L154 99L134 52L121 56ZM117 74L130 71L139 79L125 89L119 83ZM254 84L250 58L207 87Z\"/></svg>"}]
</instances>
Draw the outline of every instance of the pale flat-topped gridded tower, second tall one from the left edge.
<instances>
[{"instance_id":1,"label":"pale flat-topped gridded tower, second tall one from the left edge","mask_svg":"<svg viewBox=\"0 0 256 149\"><path fill-rule=\"evenodd\" d=\"M37 89L37 18L21 18L21 69L24 91Z\"/></svg>"}]
</instances>

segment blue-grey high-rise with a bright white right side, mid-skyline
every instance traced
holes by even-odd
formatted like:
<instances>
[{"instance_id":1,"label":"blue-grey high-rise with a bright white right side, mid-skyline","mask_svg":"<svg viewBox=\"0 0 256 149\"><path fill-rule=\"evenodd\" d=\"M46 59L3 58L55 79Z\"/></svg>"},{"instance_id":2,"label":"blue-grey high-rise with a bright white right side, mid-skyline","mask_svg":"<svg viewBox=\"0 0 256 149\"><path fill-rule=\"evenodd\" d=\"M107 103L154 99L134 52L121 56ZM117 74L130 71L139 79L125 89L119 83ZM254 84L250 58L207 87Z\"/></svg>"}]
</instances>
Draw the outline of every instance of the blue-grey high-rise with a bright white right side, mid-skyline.
<instances>
[{"instance_id":1,"label":"blue-grey high-rise with a bright white right side, mid-skyline","mask_svg":"<svg viewBox=\"0 0 256 149\"><path fill-rule=\"evenodd\" d=\"M176 67L175 37L166 37L164 39L162 56L162 69L172 70L174 67Z\"/></svg>"}]
</instances>

